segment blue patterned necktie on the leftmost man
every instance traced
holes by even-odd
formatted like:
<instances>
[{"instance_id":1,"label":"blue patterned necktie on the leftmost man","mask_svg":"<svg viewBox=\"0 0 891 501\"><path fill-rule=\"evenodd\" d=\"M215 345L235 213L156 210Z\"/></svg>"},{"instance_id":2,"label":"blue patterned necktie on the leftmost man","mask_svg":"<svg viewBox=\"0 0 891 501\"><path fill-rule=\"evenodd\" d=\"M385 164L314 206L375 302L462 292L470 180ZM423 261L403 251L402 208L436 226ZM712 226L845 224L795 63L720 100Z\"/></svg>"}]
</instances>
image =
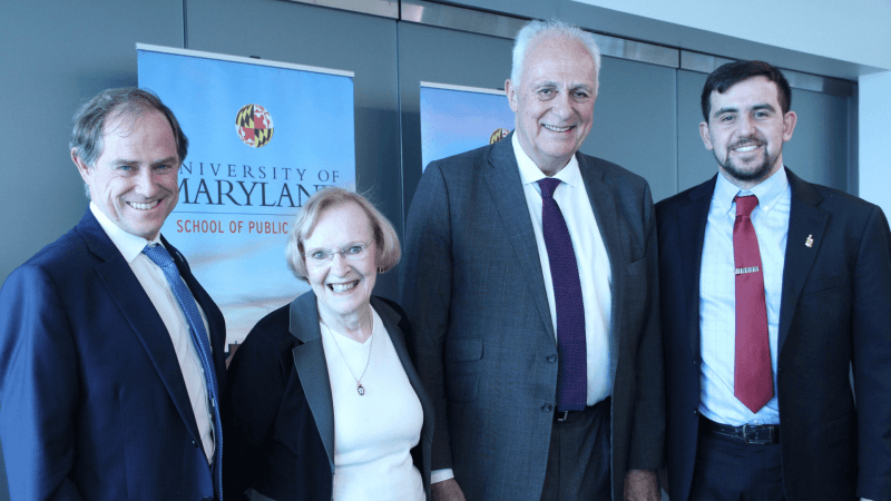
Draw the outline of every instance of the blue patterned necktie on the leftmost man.
<instances>
[{"instance_id":1,"label":"blue patterned necktie on the leftmost man","mask_svg":"<svg viewBox=\"0 0 891 501\"><path fill-rule=\"evenodd\" d=\"M204 328L204 321L198 313L198 304L195 302L195 296L188 289L183 278L179 276L179 269L176 268L173 257L164 248L163 245L149 246L143 249L143 253L148 256L156 265L164 272L164 277L176 296L179 307L186 314L188 321L189 332L192 333L192 342L195 343L195 348L198 352L198 357L202 361L202 369L204 369L204 379L207 384L207 396L210 399L210 407L214 412L214 439L216 446L214 448L214 478L217 483L219 499L223 499L223 424L219 420L219 406L217 405L217 392L219 387L216 383L216 372L214 370L214 361L210 354L210 338L207 336L207 331Z\"/></svg>"}]
</instances>

